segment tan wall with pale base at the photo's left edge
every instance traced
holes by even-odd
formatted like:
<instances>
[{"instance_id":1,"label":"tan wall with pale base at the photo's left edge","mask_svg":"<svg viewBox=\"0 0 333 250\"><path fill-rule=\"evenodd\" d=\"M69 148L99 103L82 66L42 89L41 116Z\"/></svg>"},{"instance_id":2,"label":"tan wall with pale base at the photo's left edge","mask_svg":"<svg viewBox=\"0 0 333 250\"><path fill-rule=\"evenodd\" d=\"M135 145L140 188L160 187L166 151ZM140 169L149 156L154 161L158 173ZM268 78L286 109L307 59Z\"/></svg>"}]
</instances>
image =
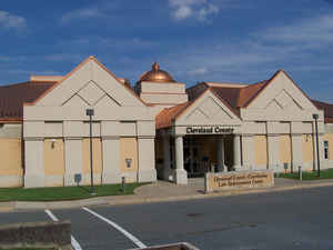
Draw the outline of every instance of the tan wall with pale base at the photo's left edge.
<instances>
[{"instance_id":1,"label":"tan wall with pale base at the photo's left edge","mask_svg":"<svg viewBox=\"0 0 333 250\"><path fill-rule=\"evenodd\" d=\"M0 138L0 187L22 186L22 143L20 139Z\"/></svg>"}]
</instances>

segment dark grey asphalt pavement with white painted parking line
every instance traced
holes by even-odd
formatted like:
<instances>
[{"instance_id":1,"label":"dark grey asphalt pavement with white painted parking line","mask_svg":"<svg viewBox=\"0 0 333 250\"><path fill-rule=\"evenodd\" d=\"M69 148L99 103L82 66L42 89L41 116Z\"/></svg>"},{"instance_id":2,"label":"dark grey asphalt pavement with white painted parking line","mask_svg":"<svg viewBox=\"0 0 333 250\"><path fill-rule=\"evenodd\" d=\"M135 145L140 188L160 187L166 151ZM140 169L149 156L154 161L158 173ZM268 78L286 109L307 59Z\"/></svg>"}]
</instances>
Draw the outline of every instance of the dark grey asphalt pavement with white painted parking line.
<instances>
[{"instance_id":1,"label":"dark grey asphalt pavement with white painted parking line","mask_svg":"<svg viewBox=\"0 0 333 250\"><path fill-rule=\"evenodd\" d=\"M332 193L333 187L323 187L51 212L71 220L72 236L82 250L180 241L201 250L331 250ZM0 213L1 223L46 220L51 218L43 210Z\"/></svg>"}]
</instances>

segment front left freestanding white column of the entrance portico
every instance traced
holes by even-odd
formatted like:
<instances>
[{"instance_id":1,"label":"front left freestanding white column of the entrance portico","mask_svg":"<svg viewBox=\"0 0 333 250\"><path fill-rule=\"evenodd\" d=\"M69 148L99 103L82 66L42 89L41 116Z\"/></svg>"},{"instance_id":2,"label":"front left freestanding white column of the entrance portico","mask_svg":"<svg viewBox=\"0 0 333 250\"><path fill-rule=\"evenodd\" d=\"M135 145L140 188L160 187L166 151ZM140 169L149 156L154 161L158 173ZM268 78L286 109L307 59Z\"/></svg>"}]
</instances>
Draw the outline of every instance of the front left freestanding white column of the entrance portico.
<instances>
[{"instance_id":1,"label":"front left freestanding white column of the entrance portico","mask_svg":"<svg viewBox=\"0 0 333 250\"><path fill-rule=\"evenodd\" d=\"M184 170L183 137L175 137L175 183L188 184L188 172Z\"/></svg>"}]
</instances>

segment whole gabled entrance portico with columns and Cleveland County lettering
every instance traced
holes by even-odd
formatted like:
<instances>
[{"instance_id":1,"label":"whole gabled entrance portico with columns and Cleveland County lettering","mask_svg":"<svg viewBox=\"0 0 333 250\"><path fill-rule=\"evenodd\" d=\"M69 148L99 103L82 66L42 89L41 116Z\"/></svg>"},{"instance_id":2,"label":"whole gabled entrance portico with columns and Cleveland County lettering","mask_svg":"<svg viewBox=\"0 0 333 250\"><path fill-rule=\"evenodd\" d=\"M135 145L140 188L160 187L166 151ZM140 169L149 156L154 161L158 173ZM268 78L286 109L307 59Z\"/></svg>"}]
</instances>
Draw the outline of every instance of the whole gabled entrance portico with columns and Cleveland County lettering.
<instances>
[{"instance_id":1,"label":"whole gabled entrance portico with columns and Cleveland County lettering","mask_svg":"<svg viewBox=\"0 0 333 250\"><path fill-rule=\"evenodd\" d=\"M163 179L184 184L188 177L240 169L241 121L228 104L206 91L190 106L179 107L178 116L160 131L163 134Z\"/></svg>"}]
</instances>

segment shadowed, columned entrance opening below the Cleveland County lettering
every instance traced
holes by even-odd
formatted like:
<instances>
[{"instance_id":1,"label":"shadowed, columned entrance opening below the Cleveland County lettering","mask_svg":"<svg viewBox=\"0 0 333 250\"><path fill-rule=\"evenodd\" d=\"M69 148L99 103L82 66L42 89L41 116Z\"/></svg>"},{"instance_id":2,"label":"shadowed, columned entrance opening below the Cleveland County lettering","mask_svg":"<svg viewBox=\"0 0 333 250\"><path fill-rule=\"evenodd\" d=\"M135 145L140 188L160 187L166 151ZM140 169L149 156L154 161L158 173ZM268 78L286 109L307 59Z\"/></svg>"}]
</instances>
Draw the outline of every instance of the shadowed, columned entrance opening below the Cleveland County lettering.
<instances>
[{"instance_id":1,"label":"shadowed, columned entrance opening below the Cleveland County lettering","mask_svg":"<svg viewBox=\"0 0 333 250\"><path fill-rule=\"evenodd\" d=\"M186 184L188 178L208 171L240 170L241 150L235 143L240 143L238 134L164 136L162 178Z\"/></svg>"}]
</instances>

